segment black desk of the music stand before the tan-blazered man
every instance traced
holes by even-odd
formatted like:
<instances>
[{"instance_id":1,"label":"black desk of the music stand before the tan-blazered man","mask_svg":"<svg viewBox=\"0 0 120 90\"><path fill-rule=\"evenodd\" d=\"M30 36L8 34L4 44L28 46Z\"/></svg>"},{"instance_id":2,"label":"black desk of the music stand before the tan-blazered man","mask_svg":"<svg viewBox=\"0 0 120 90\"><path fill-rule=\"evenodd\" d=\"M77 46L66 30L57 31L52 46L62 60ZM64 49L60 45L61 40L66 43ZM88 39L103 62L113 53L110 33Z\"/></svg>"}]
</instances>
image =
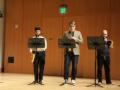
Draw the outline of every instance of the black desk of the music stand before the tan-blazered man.
<instances>
[{"instance_id":1,"label":"black desk of the music stand before the tan-blazered man","mask_svg":"<svg viewBox=\"0 0 120 90\"><path fill-rule=\"evenodd\" d=\"M59 38L58 39L58 46L60 48L75 48L75 40L66 39L66 38Z\"/></svg>"}]
</instances>

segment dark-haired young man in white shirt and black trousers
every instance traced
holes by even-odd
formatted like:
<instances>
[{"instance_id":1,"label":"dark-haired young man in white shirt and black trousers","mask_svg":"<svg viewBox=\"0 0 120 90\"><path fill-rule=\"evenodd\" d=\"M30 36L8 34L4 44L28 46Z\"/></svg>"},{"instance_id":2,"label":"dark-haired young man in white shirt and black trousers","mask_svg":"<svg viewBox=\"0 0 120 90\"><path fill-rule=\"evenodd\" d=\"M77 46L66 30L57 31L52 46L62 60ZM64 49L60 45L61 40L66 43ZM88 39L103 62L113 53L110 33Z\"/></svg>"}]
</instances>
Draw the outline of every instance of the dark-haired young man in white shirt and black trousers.
<instances>
[{"instance_id":1,"label":"dark-haired young man in white shirt and black trousers","mask_svg":"<svg viewBox=\"0 0 120 90\"><path fill-rule=\"evenodd\" d=\"M46 38L41 35L40 27L35 27L35 36L33 38L43 38L45 46L44 48L30 48L30 52L33 54L33 68L34 68L34 81L33 84L39 83L43 85L43 74L45 66L45 51L47 49Z\"/></svg>"}]
</instances>

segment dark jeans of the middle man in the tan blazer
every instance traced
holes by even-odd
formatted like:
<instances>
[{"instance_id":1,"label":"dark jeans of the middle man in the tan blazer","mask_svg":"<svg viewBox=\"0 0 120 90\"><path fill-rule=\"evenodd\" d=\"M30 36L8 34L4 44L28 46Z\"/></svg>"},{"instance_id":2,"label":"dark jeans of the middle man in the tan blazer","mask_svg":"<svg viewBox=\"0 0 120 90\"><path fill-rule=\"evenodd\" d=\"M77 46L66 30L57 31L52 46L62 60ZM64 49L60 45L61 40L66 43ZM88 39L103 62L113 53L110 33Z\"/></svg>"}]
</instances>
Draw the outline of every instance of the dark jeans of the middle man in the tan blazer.
<instances>
[{"instance_id":1,"label":"dark jeans of the middle man in the tan blazer","mask_svg":"<svg viewBox=\"0 0 120 90\"><path fill-rule=\"evenodd\" d=\"M69 77L69 67L70 63L72 62L72 72L71 76L73 80L76 79L77 75L77 64L78 64L78 56L74 55L73 53L66 53L65 54L65 60L64 60L64 79L68 79Z\"/></svg>"}]
</instances>

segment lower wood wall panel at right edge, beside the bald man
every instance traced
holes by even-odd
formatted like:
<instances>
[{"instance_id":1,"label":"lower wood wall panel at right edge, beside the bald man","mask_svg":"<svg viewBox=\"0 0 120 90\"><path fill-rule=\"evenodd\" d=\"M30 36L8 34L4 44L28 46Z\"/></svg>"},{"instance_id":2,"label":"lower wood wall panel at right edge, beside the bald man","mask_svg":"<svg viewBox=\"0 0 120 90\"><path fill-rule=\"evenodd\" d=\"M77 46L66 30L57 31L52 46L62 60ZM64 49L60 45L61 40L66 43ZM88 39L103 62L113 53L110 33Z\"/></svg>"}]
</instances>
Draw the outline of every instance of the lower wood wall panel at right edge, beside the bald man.
<instances>
[{"instance_id":1,"label":"lower wood wall panel at right edge, beside the bald man","mask_svg":"<svg viewBox=\"0 0 120 90\"><path fill-rule=\"evenodd\" d=\"M114 79L119 79L120 72L120 31L119 31L119 23L120 23L120 13L112 14L112 23L111 23L111 39L114 41L114 48L111 49L111 74Z\"/></svg>"}]
</instances>

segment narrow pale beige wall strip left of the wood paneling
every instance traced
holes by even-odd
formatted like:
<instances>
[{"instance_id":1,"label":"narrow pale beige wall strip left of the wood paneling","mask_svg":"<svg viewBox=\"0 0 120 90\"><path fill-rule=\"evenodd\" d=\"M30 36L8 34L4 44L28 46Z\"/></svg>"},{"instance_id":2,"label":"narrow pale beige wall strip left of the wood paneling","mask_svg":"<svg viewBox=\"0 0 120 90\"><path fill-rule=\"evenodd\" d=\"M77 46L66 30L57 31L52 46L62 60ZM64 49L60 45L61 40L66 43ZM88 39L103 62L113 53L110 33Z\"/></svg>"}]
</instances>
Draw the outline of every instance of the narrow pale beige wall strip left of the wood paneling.
<instances>
[{"instance_id":1,"label":"narrow pale beige wall strip left of the wood paneling","mask_svg":"<svg viewBox=\"0 0 120 90\"><path fill-rule=\"evenodd\" d=\"M0 0L0 11L4 11L4 0ZM4 17L0 18L0 71L3 60L3 27L4 27Z\"/></svg>"}]
</instances>

